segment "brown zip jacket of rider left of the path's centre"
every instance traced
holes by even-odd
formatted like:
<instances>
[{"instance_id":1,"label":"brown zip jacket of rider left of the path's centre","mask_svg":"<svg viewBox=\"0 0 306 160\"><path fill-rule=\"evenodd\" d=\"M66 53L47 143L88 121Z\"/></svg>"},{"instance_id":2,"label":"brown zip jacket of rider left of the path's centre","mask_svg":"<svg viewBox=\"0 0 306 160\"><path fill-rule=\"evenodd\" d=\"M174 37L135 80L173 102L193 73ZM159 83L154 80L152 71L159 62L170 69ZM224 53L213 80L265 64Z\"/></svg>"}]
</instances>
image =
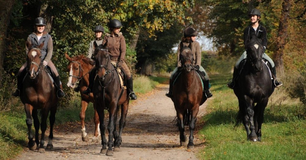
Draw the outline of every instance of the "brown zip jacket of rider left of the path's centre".
<instances>
[{"instance_id":1,"label":"brown zip jacket of rider left of the path's centre","mask_svg":"<svg viewBox=\"0 0 306 160\"><path fill-rule=\"evenodd\" d=\"M118 61L124 61L126 53L125 39L122 33L118 35L106 34L104 36L102 45L108 49L110 55L113 58L118 58Z\"/></svg>"}]
</instances>

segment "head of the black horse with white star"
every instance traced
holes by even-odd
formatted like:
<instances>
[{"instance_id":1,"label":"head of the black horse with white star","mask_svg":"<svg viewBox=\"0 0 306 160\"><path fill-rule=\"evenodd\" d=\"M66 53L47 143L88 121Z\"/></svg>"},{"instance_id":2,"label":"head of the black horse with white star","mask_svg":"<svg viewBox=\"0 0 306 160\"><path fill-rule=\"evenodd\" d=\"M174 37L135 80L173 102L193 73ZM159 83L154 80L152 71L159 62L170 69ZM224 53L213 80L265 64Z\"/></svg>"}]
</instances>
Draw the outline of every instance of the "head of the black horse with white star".
<instances>
[{"instance_id":1,"label":"head of the black horse with white star","mask_svg":"<svg viewBox=\"0 0 306 160\"><path fill-rule=\"evenodd\" d=\"M250 35L246 45L247 61L252 65L255 72L260 72L263 68L263 45L261 39L256 35Z\"/></svg>"}]
</instances>

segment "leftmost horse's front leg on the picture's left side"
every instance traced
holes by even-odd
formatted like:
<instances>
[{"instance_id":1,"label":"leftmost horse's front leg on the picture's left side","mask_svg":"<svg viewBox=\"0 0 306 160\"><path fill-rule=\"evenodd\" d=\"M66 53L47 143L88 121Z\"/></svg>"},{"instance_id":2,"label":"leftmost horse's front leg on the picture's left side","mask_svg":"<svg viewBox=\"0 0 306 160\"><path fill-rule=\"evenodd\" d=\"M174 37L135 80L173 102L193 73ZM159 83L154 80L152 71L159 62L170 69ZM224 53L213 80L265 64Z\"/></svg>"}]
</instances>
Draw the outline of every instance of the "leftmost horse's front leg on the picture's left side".
<instances>
[{"instance_id":1,"label":"leftmost horse's front leg on the picture's left side","mask_svg":"<svg viewBox=\"0 0 306 160\"><path fill-rule=\"evenodd\" d=\"M33 106L31 106L30 104L24 104L24 110L25 110L25 114L26 114L26 120L25 123L28 126L28 147L31 151L34 151L36 149L36 143L35 141L33 141L33 134L32 134L32 110L33 110Z\"/></svg>"}]
</instances>

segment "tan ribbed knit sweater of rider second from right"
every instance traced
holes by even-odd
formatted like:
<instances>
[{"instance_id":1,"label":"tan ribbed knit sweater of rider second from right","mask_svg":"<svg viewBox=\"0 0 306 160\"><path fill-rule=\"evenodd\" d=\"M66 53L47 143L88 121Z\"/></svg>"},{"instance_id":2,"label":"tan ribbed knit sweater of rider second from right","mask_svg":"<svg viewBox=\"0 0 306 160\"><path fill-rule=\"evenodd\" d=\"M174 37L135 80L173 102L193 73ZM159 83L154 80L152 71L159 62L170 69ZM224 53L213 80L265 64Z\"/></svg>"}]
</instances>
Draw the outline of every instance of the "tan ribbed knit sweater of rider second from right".
<instances>
[{"instance_id":1,"label":"tan ribbed knit sweater of rider second from right","mask_svg":"<svg viewBox=\"0 0 306 160\"><path fill-rule=\"evenodd\" d=\"M193 65L199 65L201 66L201 47L200 43L198 41L189 41L185 37L182 38L181 43L177 47L177 67L181 66L180 62L180 53L181 53L181 48L184 46L191 47L192 54L193 54Z\"/></svg>"}]
</instances>

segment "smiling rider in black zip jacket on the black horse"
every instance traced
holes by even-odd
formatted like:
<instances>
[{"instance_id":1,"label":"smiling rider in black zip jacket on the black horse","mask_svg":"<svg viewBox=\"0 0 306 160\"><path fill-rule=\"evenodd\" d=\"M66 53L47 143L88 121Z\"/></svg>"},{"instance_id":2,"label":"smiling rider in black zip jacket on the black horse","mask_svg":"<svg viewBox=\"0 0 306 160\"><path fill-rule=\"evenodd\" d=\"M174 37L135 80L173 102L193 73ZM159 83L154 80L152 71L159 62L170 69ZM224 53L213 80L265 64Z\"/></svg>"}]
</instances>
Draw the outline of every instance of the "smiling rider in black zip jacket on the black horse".
<instances>
[{"instance_id":1,"label":"smiling rider in black zip jacket on the black horse","mask_svg":"<svg viewBox=\"0 0 306 160\"><path fill-rule=\"evenodd\" d=\"M266 51L267 48L267 30L266 28L264 28L261 24L259 24L260 18L261 18L261 13L259 11L259 9L252 9L248 12L248 16L250 17L250 21L251 24L248 25L245 29L244 29L244 33L243 33L243 38L244 38L244 48L246 48L246 44L248 43L248 39L249 36L251 34L255 34L259 39L262 40L262 45L263 45L263 52ZM239 64L241 63L241 61L245 60L247 58L247 53L246 51L243 52L243 54L241 55L240 59L237 61L235 67L234 67L234 73L233 73L233 80L230 80L229 83L227 84L227 86L231 89L234 88L235 86L235 81L237 80L237 77L239 76L239 71L238 71L238 67ZM272 61L272 59L265 53L263 53L263 59L267 60L270 63L271 66L271 72L272 74L275 76L274 78L274 86L275 87L280 87L282 86L282 82L278 80L276 78L276 69L275 69L275 65L274 62Z\"/></svg>"}]
</instances>

